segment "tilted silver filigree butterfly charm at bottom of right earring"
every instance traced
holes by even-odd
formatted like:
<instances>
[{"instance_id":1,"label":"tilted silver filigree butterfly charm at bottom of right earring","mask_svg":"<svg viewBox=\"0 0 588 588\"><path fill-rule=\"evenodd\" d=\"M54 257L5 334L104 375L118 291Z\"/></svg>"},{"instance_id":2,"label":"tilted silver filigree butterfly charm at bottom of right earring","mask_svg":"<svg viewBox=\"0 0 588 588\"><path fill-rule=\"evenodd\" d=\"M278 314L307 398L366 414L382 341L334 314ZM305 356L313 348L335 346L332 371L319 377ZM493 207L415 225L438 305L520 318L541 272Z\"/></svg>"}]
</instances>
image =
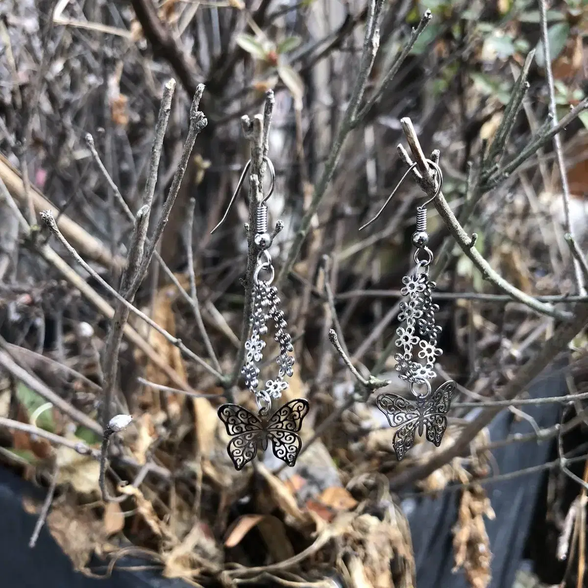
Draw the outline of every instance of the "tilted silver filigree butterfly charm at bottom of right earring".
<instances>
[{"instance_id":1,"label":"tilted silver filigree butterfly charm at bottom of right earring","mask_svg":"<svg viewBox=\"0 0 588 588\"><path fill-rule=\"evenodd\" d=\"M441 445L443 433L447 428L445 415L451 405L455 389L455 382L448 380L425 398L409 400L392 393L380 394L377 397L376 405L386 415L390 426L398 427L392 445L399 461L415 443L417 428L420 436L423 434L423 427L426 426L427 441L437 447Z\"/></svg>"}]
</instances>

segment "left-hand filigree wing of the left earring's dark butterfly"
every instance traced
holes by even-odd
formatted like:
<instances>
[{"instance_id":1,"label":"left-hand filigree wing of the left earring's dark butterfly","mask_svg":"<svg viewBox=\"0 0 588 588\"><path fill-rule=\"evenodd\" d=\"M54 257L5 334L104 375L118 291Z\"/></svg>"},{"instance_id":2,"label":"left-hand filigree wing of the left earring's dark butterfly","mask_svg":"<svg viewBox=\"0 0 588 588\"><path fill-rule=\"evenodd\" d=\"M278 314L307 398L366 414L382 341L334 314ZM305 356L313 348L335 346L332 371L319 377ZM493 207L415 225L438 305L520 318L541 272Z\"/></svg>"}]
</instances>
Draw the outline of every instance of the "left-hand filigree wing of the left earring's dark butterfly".
<instances>
[{"instance_id":1,"label":"left-hand filigree wing of the left earring's dark butterfly","mask_svg":"<svg viewBox=\"0 0 588 588\"><path fill-rule=\"evenodd\" d=\"M263 423L249 410L235 404L219 407L219 419L226 432L233 437L226 446L236 470L242 470L256 455L258 442L265 439Z\"/></svg>"}]
</instances>

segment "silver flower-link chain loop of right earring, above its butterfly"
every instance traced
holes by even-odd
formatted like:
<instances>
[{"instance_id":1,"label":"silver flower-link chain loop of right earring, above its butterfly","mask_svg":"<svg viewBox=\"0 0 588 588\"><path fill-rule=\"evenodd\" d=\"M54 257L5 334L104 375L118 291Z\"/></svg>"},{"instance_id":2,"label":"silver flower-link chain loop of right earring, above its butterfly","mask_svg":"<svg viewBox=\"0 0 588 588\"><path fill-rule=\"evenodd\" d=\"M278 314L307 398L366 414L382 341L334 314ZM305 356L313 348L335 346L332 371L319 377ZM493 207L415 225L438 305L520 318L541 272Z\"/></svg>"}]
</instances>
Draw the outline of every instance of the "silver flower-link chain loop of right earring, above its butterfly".
<instances>
[{"instance_id":1,"label":"silver flower-link chain loop of right earring, above its butterfly","mask_svg":"<svg viewBox=\"0 0 588 588\"><path fill-rule=\"evenodd\" d=\"M400 303L398 318L402 325L396 329L396 346L402 349L395 355L396 370L401 379L415 383L436 376L433 366L442 353L437 347L441 328L435 323L439 306L433 304L431 296L436 284L422 268L422 262L417 263L414 273L402 278L404 287L400 293L406 299ZM421 362L416 360L415 352Z\"/></svg>"}]
</instances>

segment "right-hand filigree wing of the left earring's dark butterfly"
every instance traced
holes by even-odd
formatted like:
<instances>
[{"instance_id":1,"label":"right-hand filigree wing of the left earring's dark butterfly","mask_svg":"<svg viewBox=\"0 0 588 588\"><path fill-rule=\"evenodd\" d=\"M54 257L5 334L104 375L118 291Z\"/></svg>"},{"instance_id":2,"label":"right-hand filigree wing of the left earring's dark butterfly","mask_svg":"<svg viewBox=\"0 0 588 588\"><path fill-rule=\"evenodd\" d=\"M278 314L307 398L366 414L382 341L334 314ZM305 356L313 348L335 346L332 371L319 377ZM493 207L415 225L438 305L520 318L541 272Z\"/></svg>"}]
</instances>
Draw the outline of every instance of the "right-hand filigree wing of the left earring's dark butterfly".
<instances>
[{"instance_id":1,"label":"right-hand filigree wing of the left earring's dark butterfly","mask_svg":"<svg viewBox=\"0 0 588 588\"><path fill-rule=\"evenodd\" d=\"M302 420L308 414L309 404L303 398L296 398L280 406L269 418L265 426L268 437L272 440L273 455L292 467L302 449L302 439L298 431Z\"/></svg>"}]
</instances>

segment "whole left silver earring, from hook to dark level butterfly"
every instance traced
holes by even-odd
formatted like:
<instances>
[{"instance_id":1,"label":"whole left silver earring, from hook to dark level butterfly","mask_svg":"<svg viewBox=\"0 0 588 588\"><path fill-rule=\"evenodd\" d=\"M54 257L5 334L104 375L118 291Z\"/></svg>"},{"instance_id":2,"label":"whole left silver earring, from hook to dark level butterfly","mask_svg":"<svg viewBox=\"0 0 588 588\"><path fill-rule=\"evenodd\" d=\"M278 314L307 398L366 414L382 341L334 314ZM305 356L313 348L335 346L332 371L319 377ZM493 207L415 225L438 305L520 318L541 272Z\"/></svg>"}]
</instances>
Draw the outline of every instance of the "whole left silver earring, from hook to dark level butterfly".
<instances>
[{"instance_id":1,"label":"whole left silver earring, from hook to dark level butterfly","mask_svg":"<svg viewBox=\"0 0 588 588\"><path fill-rule=\"evenodd\" d=\"M266 202L273 193L275 170L269 158L265 157L264 160L270 172L271 185L268 195L259 203L256 215L254 241L258 255L253 273L253 312L249 319L249 338L245 342L245 364L241 369L246 385L255 396L258 415L254 415L246 408L236 404L224 404L218 410L219 418L225 424L226 432L232 437L227 445L227 452L237 470L243 469L255 458L259 445L263 450L266 450L268 440L272 442L273 454L278 459L283 460L289 466L295 465L296 457L302 449L302 440L298 432L302 427L302 420L309 411L308 401L299 398L290 400L271 413L272 400L279 399L282 392L288 388L285 376L292 376L294 358L292 338L286 330L288 323L286 323L283 310L280 310L281 301L278 296L278 288L272 286L275 270L269 248L272 245L273 236L268 232L268 206ZM243 169L225 215L212 229L212 232L218 229L226 219L243 185L250 165L251 160ZM263 279L262 273L268 277ZM265 387L260 390L259 366L263 359L263 349L266 346L263 336L268 333L269 321L273 325L273 338L279 345L279 355L276 360L278 373L273 379L267 380Z\"/></svg>"}]
</instances>

